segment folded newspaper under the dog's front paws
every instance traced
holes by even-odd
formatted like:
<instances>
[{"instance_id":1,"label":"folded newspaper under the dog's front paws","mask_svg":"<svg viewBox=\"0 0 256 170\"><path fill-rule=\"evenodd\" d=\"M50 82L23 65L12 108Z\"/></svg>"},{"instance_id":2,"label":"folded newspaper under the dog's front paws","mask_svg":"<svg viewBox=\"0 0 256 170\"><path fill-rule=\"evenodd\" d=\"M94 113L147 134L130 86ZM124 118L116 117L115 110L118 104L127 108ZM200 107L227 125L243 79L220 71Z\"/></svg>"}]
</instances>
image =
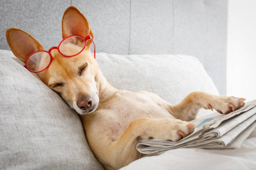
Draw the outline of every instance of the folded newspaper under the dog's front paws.
<instances>
[{"instance_id":1,"label":"folded newspaper under the dog's front paws","mask_svg":"<svg viewBox=\"0 0 256 170\"><path fill-rule=\"evenodd\" d=\"M136 148L140 153L154 155L175 148L240 148L256 127L255 106L256 100L253 100L227 115L215 112L192 120L195 131L178 142L144 139L138 141Z\"/></svg>"}]
</instances>

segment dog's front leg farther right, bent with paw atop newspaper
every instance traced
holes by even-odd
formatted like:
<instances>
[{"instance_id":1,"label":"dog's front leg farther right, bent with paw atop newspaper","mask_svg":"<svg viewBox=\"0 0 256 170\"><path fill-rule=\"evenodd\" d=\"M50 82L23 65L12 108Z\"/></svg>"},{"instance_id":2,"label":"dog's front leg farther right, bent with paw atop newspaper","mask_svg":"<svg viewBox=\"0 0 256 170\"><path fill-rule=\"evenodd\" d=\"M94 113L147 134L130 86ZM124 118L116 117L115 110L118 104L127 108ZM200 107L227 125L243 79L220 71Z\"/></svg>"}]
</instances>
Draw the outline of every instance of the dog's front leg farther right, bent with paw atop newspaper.
<instances>
[{"instance_id":1,"label":"dog's front leg farther right, bent with paw atop newspaper","mask_svg":"<svg viewBox=\"0 0 256 170\"><path fill-rule=\"evenodd\" d=\"M192 92L177 105L169 105L168 109L180 120L193 120L201 108L215 109L219 113L228 114L243 107L244 98L210 95L206 92Z\"/></svg>"}]
</instances>

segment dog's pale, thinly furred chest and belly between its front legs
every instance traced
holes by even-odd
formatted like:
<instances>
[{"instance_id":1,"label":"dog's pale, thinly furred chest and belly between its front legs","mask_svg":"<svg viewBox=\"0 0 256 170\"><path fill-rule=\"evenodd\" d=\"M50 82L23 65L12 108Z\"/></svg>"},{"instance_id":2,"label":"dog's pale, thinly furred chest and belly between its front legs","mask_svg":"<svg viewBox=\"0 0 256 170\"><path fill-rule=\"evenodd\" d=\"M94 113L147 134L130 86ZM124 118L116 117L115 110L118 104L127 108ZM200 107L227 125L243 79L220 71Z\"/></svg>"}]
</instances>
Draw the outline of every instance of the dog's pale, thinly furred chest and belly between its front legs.
<instances>
[{"instance_id":1,"label":"dog's pale, thinly furred chest and belly between its front legs","mask_svg":"<svg viewBox=\"0 0 256 170\"><path fill-rule=\"evenodd\" d=\"M140 117L174 118L165 108L166 102L159 96L148 92L129 92L120 90L114 97L100 106L97 117L102 128L108 129L110 140L117 140L135 119ZM96 114L98 114L96 113Z\"/></svg>"}]
</instances>

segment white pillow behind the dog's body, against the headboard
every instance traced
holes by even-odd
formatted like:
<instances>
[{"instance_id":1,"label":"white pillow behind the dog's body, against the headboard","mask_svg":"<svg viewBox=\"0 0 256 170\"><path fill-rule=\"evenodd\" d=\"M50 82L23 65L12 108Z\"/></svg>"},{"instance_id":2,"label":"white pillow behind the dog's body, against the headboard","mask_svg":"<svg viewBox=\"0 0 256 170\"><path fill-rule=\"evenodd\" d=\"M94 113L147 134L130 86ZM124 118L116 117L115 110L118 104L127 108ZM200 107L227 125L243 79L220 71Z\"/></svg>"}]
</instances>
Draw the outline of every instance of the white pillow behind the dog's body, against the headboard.
<instances>
[{"instance_id":1,"label":"white pillow behind the dog's body, against the headboard","mask_svg":"<svg viewBox=\"0 0 256 170\"><path fill-rule=\"evenodd\" d=\"M97 53L103 75L120 90L153 92L171 104L193 91L219 92L197 58L188 55L114 55ZM200 111L204 116L211 110Z\"/></svg>"}]
</instances>

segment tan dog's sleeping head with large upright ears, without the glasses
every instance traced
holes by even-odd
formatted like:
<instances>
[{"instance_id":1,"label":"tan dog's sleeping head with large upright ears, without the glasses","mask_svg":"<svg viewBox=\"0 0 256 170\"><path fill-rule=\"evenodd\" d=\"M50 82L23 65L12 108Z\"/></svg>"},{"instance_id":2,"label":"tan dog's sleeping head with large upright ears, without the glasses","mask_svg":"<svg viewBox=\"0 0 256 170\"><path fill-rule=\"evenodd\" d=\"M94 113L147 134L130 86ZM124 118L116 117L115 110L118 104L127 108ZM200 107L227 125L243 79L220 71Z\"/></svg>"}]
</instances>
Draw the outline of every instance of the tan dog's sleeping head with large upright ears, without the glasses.
<instances>
[{"instance_id":1,"label":"tan dog's sleeping head with large upright ears, without the glasses","mask_svg":"<svg viewBox=\"0 0 256 170\"><path fill-rule=\"evenodd\" d=\"M69 35L90 35L87 19L75 7L69 7L62 18L62 37ZM27 32L9 28L6 38L13 54L23 62L33 52L44 50L44 47ZM87 114L96 110L99 103L95 77L98 64L90 52L92 41L87 40L84 50L74 57L64 57L57 49L51 50L53 60L49 67L37 73L41 80L57 92L68 105L79 114ZM66 44L64 50L72 51L77 46Z\"/></svg>"}]
</instances>

